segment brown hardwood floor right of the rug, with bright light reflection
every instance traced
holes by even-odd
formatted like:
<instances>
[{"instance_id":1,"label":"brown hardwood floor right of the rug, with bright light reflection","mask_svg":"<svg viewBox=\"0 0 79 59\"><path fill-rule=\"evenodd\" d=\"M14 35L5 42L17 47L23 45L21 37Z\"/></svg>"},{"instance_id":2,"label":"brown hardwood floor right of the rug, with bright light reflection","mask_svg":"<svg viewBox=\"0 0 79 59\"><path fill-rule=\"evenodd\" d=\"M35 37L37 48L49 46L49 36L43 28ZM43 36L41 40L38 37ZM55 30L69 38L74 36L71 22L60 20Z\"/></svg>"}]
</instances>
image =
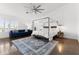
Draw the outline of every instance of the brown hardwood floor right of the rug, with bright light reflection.
<instances>
[{"instance_id":1,"label":"brown hardwood floor right of the rug, with bright light reflection","mask_svg":"<svg viewBox=\"0 0 79 59\"><path fill-rule=\"evenodd\" d=\"M79 55L79 42L73 39L56 39L59 41L51 55Z\"/></svg>"}]
</instances>

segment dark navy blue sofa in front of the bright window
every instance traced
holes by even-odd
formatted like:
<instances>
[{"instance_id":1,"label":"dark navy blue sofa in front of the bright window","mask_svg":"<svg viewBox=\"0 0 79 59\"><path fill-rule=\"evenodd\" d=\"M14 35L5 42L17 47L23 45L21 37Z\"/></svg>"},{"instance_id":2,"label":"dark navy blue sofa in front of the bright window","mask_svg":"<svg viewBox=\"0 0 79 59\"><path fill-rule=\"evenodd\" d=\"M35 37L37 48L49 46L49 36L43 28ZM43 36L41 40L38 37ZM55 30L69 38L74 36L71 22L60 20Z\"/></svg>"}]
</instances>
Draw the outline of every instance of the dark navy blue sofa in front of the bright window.
<instances>
[{"instance_id":1,"label":"dark navy blue sofa in front of the bright window","mask_svg":"<svg viewBox=\"0 0 79 59\"><path fill-rule=\"evenodd\" d=\"M31 36L32 34L32 30L27 30L25 31L23 30L11 30L9 32L9 37L10 39L18 39L18 38L22 38L22 37L27 37L27 36Z\"/></svg>"}]
</instances>

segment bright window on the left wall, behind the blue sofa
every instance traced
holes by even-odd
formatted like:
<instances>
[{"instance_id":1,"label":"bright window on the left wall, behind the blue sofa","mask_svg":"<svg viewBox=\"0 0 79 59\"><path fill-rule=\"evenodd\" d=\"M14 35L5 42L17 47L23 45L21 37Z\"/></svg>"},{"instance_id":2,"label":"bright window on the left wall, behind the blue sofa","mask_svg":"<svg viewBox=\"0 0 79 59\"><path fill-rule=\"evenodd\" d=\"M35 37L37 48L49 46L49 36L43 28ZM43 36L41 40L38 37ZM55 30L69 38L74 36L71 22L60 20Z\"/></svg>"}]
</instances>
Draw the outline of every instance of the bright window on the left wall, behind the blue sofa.
<instances>
[{"instance_id":1,"label":"bright window on the left wall, behind the blue sofa","mask_svg":"<svg viewBox=\"0 0 79 59\"><path fill-rule=\"evenodd\" d=\"M0 18L0 32L13 30L17 27L17 22Z\"/></svg>"}]
</instances>

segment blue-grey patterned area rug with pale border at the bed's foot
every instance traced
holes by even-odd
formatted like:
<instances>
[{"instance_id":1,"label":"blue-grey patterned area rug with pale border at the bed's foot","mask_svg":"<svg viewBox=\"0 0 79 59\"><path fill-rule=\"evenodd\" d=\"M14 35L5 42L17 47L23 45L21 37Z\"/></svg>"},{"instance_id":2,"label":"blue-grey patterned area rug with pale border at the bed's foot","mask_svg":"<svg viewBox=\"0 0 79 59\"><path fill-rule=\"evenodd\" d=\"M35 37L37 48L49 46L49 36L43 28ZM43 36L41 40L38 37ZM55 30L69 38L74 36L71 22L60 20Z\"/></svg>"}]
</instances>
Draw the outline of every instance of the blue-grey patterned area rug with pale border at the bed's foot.
<instances>
[{"instance_id":1,"label":"blue-grey patterned area rug with pale border at the bed's foot","mask_svg":"<svg viewBox=\"0 0 79 59\"><path fill-rule=\"evenodd\" d=\"M33 37L12 41L14 46L24 55L47 55L54 49L57 41L44 42Z\"/></svg>"}]
</instances>

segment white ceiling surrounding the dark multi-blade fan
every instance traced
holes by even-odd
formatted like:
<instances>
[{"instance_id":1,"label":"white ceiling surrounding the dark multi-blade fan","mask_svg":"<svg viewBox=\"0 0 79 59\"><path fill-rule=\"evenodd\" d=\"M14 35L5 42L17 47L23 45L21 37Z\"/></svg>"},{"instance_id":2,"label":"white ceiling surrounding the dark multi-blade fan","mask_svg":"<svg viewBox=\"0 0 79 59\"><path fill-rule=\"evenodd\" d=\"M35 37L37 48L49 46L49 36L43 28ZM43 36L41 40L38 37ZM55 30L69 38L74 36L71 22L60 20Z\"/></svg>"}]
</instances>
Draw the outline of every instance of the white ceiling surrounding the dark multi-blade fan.
<instances>
[{"instance_id":1,"label":"white ceiling surrounding the dark multi-blade fan","mask_svg":"<svg viewBox=\"0 0 79 59\"><path fill-rule=\"evenodd\" d=\"M40 4L42 5L41 8L45 10L38 15L46 15L48 13L53 12L57 8L60 8L65 5L65 3L40 3ZM16 16L20 18L32 17L34 16L33 14L25 13L26 8L24 6L28 5L29 5L28 3L0 3L0 14Z\"/></svg>"}]
</instances>

